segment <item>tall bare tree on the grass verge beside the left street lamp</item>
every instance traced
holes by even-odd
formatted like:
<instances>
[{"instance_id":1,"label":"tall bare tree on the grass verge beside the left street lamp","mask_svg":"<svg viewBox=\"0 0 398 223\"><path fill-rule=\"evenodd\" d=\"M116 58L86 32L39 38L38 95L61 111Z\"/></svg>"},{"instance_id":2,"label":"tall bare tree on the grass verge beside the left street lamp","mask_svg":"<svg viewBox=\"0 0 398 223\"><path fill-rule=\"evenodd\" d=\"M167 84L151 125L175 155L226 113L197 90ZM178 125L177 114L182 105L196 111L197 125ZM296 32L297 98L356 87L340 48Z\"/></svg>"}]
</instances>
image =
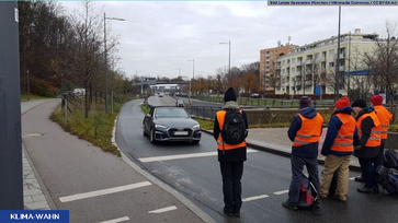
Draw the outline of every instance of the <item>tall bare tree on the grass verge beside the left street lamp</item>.
<instances>
[{"instance_id":1,"label":"tall bare tree on the grass verge beside the left street lamp","mask_svg":"<svg viewBox=\"0 0 398 223\"><path fill-rule=\"evenodd\" d=\"M107 77L104 72L111 70L110 62L104 60L103 17L93 12L93 3L83 1L83 11L71 15L71 32L68 35L66 55L70 69L68 77L86 89L84 116L89 116L94 91L103 92ZM107 27L105 27L107 28ZM112 50L117 42L106 44L106 50Z\"/></svg>"}]
</instances>

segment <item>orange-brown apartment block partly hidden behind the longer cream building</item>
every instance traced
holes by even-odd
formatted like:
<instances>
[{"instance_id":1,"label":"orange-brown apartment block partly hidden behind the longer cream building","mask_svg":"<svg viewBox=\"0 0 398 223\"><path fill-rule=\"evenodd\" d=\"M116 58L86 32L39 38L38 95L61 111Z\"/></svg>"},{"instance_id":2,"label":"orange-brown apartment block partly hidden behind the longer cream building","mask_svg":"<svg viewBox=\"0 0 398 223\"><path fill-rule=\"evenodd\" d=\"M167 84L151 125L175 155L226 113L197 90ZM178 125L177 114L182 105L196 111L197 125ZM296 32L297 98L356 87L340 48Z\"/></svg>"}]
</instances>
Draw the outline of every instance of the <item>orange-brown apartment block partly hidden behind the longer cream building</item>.
<instances>
[{"instance_id":1,"label":"orange-brown apartment block partly hidden behind the longer cream building","mask_svg":"<svg viewBox=\"0 0 398 223\"><path fill-rule=\"evenodd\" d=\"M260 50L260 83L262 90L268 93L274 92L274 80L276 73L276 59L281 55L287 55L291 49L294 49L297 46L286 44L285 46L281 45L278 42L277 47L261 49Z\"/></svg>"}]
</instances>

